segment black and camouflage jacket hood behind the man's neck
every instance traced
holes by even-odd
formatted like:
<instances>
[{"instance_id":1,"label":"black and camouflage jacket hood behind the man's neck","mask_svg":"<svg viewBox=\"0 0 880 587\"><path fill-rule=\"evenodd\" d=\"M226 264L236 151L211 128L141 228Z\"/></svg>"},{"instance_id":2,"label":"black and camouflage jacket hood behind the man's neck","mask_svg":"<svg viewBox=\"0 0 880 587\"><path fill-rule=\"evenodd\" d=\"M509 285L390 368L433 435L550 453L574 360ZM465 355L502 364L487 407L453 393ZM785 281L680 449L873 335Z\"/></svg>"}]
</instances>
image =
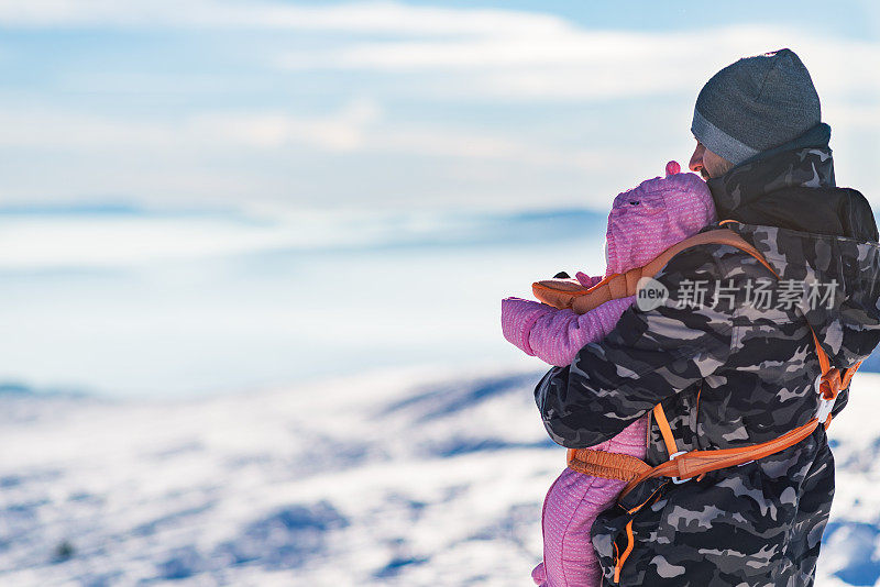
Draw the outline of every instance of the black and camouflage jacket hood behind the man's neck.
<instances>
[{"instance_id":1,"label":"black and camouflage jacket hood behind the man's neck","mask_svg":"<svg viewBox=\"0 0 880 587\"><path fill-rule=\"evenodd\" d=\"M707 185L721 220L780 277L832 362L848 367L880 343L880 244L866 198L837 188L820 124Z\"/></svg>"}]
</instances>

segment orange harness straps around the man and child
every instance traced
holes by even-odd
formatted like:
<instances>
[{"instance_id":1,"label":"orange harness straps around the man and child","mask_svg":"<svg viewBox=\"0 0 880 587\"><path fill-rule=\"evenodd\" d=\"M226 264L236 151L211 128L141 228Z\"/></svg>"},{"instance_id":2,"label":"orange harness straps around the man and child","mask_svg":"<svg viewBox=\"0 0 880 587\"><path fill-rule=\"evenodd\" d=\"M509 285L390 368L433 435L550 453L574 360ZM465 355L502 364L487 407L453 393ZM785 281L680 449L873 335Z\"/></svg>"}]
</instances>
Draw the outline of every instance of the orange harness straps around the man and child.
<instances>
[{"instance_id":1,"label":"orange harness straps around the man and child","mask_svg":"<svg viewBox=\"0 0 880 587\"><path fill-rule=\"evenodd\" d=\"M722 224L725 222L730 221L723 221ZM729 229L716 229L685 239L681 243L661 253L644 267L636 267L624 274L608 276L591 288L584 288L574 280L550 279L534 284L532 291L535 296L544 303L549 303L556 308L571 308L578 313L585 313L612 299L636 295L639 279L642 277L653 277L674 255L685 248L701 244L727 244L735 246L755 257L779 278L773 268L767 263L767 259L741 236ZM831 359L825 350L822 348L818 337L812 326L810 330L813 333L813 343L815 344L822 370L816 377L815 389L822 398L816 417L805 424L777 439L760 444L740 446L737 448L679 451L663 407L658 403L653 408L652 416L663 438L663 443L669 454L669 461L657 466L651 466L629 455L607 453L592 448L570 448L568 453L569 467L579 473L584 473L594 477L627 481L627 485L624 487L618 498L619 502L640 483L647 479L668 477L673 484L684 483L693 478L700 479L706 473L743 465L794 446L810 436L820 424L823 424L827 430L832 422L834 401L837 395L849 386L849 381L853 379L861 362L856 363L854 366L840 373L836 367L832 367ZM627 513L632 514L641 509L657 495L657 491L659 491L659 488L642 503L629 509ZM632 520L629 520L626 524L626 535L627 546L622 553L617 552L617 545L615 544L615 583L620 580L620 569L635 545Z\"/></svg>"}]
</instances>

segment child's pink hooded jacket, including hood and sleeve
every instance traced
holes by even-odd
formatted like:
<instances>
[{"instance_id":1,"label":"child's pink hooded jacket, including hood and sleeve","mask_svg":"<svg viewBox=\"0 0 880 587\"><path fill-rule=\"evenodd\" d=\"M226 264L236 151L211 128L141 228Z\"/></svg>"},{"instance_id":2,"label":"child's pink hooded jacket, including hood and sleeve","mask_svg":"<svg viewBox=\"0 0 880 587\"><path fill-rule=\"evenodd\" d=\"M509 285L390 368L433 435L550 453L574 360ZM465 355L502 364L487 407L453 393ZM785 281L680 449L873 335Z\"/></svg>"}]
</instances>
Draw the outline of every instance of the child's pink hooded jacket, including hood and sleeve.
<instances>
[{"instance_id":1,"label":"child's pink hooded jacket, including hood and sleeve","mask_svg":"<svg viewBox=\"0 0 880 587\"><path fill-rule=\"evenodd\" d=\"M666 177L642 181L614 199L606 233L606 276L646 265L715 222L715 206L706 184L680 170L678 163L670 162ZM580 272L576 277L587 287L601 279ZM585 344L605 337L634 299L612 300L576 314L534 300L505 298L502 332L526 354L565 366Z\"/></svg>"}]
</instances>

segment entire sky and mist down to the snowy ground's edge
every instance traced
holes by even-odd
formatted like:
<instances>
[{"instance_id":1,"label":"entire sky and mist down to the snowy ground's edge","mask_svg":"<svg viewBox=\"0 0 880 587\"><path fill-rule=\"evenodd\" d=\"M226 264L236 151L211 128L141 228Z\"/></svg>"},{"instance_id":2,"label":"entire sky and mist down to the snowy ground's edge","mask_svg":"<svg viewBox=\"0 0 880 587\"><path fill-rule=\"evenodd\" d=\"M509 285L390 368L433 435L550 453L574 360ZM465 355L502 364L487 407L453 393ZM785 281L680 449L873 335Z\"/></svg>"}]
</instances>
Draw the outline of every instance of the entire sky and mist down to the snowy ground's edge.
<instances>
[{"instance_id":1,"label":"entire sky and mist down to the snowy ground's edge","mask_svg":"<svg viewBox=\"0 0 880 587\"><path fill-rule=\"evenodd\" d=\"M0 0L0 384L535 365L498 300L604 274L702 85L785 46L880 203L876 2L623 5Z\"/></svg>"}]
</instances>

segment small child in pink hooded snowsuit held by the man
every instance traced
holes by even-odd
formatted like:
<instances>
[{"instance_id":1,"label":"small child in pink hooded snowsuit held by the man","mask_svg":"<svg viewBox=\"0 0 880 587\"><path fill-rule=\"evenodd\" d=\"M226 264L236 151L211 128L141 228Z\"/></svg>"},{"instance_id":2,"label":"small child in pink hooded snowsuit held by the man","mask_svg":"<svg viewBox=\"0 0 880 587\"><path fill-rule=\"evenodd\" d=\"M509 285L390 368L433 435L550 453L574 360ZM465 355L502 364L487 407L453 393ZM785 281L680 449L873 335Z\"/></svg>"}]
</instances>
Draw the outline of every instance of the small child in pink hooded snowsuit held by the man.
<instances>
[{"instance_id":1,"label":"small child in pink hooded snowsuit held by the man","mask_svg":"<svg viewBox=\"0 0 880 587\"><path fill-rule=\"evenodd\" d=\"M680 174L675 162L667 176L642 181L614 199L606 234L605 275L641 267L660 253L715 222L712 196L700 177ZM592 287L601 277L578 273L581 285ZM635 297L614 299L584 314L520 298L502 301L505 339L531 356L558 366L569 365L585 344L610 332ZM648 414L613 439L593 448L645 458ZM543 502L543 562L532 571L537 585L588 587L602 583L590 541L596 516L610 507L626 484L565 468Z\"/></svg>"}]
</instances>

